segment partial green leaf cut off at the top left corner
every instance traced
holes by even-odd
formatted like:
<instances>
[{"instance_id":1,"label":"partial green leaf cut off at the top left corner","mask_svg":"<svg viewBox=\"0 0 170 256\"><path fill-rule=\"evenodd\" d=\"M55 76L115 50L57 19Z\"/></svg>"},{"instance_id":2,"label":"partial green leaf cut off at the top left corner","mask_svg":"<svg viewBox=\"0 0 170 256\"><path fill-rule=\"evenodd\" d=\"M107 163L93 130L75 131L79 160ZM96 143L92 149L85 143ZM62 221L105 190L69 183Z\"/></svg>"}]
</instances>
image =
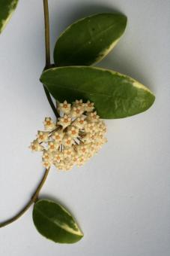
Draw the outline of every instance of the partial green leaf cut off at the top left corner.
<instances>
[{"instance_id":1,"label":"partial green leaf cut off at the top left corner","mask_svg":"<svg viewBox=\"0 0 170 256\"><path fill-rule=\"evenodd\" d=\"M0 33L10 20L18 0L0 0Z\"/></svg>"}]
</instances>

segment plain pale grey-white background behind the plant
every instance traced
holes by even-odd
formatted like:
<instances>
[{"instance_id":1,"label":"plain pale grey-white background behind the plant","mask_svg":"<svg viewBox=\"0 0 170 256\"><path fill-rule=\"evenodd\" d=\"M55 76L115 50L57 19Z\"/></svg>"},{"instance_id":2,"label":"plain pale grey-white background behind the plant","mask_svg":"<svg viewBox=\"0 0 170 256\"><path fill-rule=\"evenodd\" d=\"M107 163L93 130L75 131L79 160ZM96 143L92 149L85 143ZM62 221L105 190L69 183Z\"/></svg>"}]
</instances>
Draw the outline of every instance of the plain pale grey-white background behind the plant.
<instances>
[{"instance_id":1,"label":"plain pale grey-white background behind the plant","mask_svg":"<svg viewBox=\"0 0 170 256\"><path fill-rule=\"evenodd\" d=\"M0 219L30 199L43 175L28 145L52 116L39 82L44 67L43 1L20 0L0 36ZM74 20L103 11L128 17L126 32L99 66L147 85L156 102L145 113L107 120L108 143L80 169L52 169L40 197L70 209L85 236L59 245L40 236L31 210L0 230L1 256L169 256L170 50L168 0L49 0L51 49ZM76 38L75 38L76 39Z\"/></svg>"}]
</instances>

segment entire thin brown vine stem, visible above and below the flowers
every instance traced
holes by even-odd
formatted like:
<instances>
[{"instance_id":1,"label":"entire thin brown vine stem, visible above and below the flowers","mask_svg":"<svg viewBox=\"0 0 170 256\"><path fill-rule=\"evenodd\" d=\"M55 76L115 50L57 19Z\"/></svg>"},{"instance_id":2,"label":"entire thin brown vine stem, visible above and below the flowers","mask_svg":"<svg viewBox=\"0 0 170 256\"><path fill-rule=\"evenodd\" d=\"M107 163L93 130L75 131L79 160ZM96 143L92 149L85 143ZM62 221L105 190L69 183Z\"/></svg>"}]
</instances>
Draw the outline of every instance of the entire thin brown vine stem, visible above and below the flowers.
<instances>
[{"instance_id":1,"label":"entire thin brown vine stem, visible above and below the flowers","mask_svg":"<svg viewBox=\"0 0 170 256\"><path fill-rule=\"evenodd\" d=\"M45 69L49 69L51 66L50 63L50 50L49 50L49 8L48 8L48 0L43 0L43 10L44 10L44 22L45 22L45 44L46 44L46 67ZM49 101L49 104L52 107L52 110L54 111L55 117L58 117L56 108L54 103L52 102L52 98L49 95L49 92L46 90L46 87L44 87L46 97ZM20 218L28 209L29 207L36 202L37 197L40 193L41 188L43 187L43 184L46 181L46 178L49 174L49 168L45 170L43 178L40 181L40 184L37 186L37 189L35 190L33 196L31 197L31 200L26 204L26 206L20 210L13 218L8 219L7 221L1 222L0 227L7 226L8 224L12 223L13 221L16 221L18 218Z\"/></svg>"}]
</instances>

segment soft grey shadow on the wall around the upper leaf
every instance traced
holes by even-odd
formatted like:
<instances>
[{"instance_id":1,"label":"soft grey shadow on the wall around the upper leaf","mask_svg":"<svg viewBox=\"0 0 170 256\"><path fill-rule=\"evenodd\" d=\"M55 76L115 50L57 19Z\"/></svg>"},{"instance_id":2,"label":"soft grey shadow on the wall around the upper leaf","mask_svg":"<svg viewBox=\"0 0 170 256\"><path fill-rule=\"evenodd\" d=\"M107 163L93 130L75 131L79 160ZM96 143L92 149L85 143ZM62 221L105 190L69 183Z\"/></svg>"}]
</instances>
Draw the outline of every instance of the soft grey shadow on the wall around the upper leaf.
<instances>
[{"instance_id":1,"label":"soft grey shadow on the wall around the upper leaf","mask_svg":"<svg viewBox=\"0 0 170 256\"><path fill-rule=\"evenodd\" d=\"M76 20L79 20L83 17L90 16L92 14L97 13L121 13L124 14L118 8L114 8L114 6L108 5L100 5L100 4L91 4L89 3L79 3L79 5L74 4L69 6L64 6L58 12L58 6L56 5L52 9L49 9L50 13L49 16L51 17L51 43L52 43L52 50L55 47L55 42L61 32L70 26L71 23L74 23ZM124 14L126 15L126 14ZM127 34L128 32L128 34ZM124 75L128 75L137 81L145 84L151 90L153 89L151 86L150 78L146 78L145 69L142 72L140 66L140 59L133 55L132 50L128 45L130 45L130 34L132 33L132 40L134 38L133 31L131 31L130 26L127 22L127 29L124 32L121 40L115 46L115 48L99 63L95 63L94 66L99 66L105 69L112 69L116 72L120 72ZM75 38L76 40L76 38ZM133 41L133 44L135 42ZM127 45L127 48L125 47ZM136 45L138 47L138 45ZM130 50L129 50L130 49ZM53 61L53 58L52 58Z\"/></svg>"}]
</instances>

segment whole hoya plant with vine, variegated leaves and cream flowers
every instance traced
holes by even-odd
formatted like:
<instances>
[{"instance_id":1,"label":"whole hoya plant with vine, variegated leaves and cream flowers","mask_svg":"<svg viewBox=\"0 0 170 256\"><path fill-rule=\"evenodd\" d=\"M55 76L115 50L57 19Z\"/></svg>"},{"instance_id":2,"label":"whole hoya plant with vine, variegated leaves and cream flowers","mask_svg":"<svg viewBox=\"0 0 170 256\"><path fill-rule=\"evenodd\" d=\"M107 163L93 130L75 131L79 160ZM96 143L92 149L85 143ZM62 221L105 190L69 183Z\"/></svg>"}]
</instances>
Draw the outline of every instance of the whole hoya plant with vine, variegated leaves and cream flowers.
<instances>
[{"instance_id":1,"label":"whole hoya plant with vine, variegated leaves and cream flowers","mask_svg":"<svg viewBox=\"0 0 170 256\"><path fill-rule=\"evenodd\" d=\"M0 0L0 32L17 2ZM37 231L54 242L73 243L82 239L83 233L70 212L59 203L38 197L49 169L53 166L65 172L91 160L107 141L104 120L146 111L155 96L148 87L127 75L94 66L124 34L124 14L94 14L77 20L58 37L51 62L48 0L43 0L43 9L46 63L40 82L55 120L45 117L43 130L37 131L30 148L42 152L45 172L24 209L1 222L0 227L16 221L34 203L32 217Z\"/></svg>"}]
</instances>

